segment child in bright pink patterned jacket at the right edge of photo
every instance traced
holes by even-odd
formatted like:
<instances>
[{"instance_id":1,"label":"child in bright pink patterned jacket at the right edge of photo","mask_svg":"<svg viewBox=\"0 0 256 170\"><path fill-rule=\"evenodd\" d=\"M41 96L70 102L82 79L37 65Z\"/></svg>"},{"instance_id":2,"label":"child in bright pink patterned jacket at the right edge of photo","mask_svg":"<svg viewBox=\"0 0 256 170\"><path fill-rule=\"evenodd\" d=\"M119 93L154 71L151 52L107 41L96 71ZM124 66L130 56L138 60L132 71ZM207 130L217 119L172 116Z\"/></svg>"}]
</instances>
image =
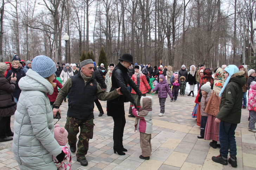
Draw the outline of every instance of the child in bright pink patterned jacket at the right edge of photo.
<instances>
[{"instance_id":1,"label":"child in bright pink patterned jacket at the right edge of photo","mask_svg":"<svg viewBox=\"0 0 256 170\"><path fill-rule=\"evenodd\" d=\"M256 132L256 81L252 81L248 96L248 110L250 114L249 131Z\"/></svg>"}]
</instances>

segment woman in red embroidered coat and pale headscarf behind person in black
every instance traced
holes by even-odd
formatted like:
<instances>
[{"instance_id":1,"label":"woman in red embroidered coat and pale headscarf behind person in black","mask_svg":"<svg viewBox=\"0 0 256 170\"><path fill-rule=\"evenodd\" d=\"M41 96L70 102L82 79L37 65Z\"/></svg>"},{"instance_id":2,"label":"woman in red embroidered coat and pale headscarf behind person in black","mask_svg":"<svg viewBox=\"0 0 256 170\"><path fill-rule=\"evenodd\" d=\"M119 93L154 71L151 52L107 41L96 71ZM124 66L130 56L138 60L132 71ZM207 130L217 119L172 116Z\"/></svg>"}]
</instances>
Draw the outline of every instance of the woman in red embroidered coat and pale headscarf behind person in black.
<instances>
[{"instance_id":1,"label":"woman in red embroidered coat and pale headscarf behind person in black","mask_svg":"<svg viewBox=\"0 0 256 170\"><path fill-rule=\"evenodd\" d=\"M134 66L134 71L135 74L132 76L132 80L135 82L137 87L140 89L142 96L146 96L146 93L148 90L151 90L146 76L141 72L141 67L139 65ZM136 94L136 92L132 89L132 96L135 99L134 102L136 102L136 109L139 110L141 108L140 106L140 100L139 96ZM133 103L130 103L130 108L129 108L129 117L135 117L132 113L132 107Z\"/></svg>"}]
</instances>

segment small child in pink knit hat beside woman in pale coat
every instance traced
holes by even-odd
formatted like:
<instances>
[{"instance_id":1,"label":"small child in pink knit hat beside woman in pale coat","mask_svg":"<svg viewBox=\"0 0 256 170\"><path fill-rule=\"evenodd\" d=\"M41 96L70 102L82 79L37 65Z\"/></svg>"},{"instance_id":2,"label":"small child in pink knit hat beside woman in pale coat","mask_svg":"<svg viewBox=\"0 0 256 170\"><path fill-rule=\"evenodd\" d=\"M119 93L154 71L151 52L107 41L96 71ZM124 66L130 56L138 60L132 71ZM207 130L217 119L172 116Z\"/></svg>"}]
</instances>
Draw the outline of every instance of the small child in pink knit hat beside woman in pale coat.
<instances>
[{"instance_id":1,"label":"small child in pink knit hat beside woman in pale coat","mask_svg":"<svg viewBox=\"0 0 256 170\"><path fill-rule=\"evenodd\" d=\"M54 138L62 147L62 150L66 155L62 162L59 162L56 157L52 156L53 162L58 170L71 170L71 152L66 145L66 143L68 143L68 131L64 127L60 128L59 124L56 124L54 128Z\"/></svg>"}]
</instances>

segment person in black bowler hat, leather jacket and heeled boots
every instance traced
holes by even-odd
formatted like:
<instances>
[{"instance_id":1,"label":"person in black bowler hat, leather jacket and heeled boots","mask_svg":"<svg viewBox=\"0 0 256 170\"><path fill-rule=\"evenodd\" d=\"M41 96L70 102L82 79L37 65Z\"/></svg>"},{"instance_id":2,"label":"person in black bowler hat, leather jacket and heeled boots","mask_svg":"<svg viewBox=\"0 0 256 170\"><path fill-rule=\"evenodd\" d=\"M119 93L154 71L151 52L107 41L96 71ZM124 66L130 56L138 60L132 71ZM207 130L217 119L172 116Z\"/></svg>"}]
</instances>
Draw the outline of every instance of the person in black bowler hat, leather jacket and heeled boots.
<instances>
[{"instance_id":1,"label":"person in black bowler hat, leather jacket and heeled boots","mask_svg":"<svg viewBox=\"0 0 256 170\"><path fill-rule=\"evenodd\" d=\"M116 88L121 87L120 90L123 95L120 95L113 100L107 101L107 114L108 116L112 116L114 120L114 153L117 152L119 155L125 155L124 152L127 151L127 149L124 149L123 147L123 130L126 123L124 102L132 102L136 108L136 103L132 97L132 94L130 94L129 90L127 89L127 84L129 84L130 87L134 89L139 98L141 98L142 93L140 92L139 88L137 88L134 81L127 74L128 68L133 64L133 56L131 54L123 54L122 57L118 60L120 60L120 62L116 65L111 75L112 87L110 92Z\"/></svg>"}]
</instances>

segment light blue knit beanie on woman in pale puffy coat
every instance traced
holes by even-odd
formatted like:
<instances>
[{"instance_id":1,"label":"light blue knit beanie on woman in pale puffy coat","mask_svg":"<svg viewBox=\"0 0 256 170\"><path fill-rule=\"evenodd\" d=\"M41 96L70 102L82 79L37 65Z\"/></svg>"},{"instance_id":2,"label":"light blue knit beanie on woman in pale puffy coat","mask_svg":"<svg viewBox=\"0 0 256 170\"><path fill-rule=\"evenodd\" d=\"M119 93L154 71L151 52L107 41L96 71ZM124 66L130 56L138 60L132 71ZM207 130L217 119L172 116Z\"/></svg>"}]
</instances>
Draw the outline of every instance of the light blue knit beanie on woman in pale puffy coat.
<instances>
[{"instance_id":1,"label":"light blue knit beanie on woman in pale puffy coat","mask_svg":"<svg viewBox=\"0 0 256 170\"><path fill-rule=\"evenodd\" d=\"M57 70L56 64L52 59L44 55L38 55L33 59L32 68L33 71L44 78L50 77Z\"/></svg>"}]
</instances>

